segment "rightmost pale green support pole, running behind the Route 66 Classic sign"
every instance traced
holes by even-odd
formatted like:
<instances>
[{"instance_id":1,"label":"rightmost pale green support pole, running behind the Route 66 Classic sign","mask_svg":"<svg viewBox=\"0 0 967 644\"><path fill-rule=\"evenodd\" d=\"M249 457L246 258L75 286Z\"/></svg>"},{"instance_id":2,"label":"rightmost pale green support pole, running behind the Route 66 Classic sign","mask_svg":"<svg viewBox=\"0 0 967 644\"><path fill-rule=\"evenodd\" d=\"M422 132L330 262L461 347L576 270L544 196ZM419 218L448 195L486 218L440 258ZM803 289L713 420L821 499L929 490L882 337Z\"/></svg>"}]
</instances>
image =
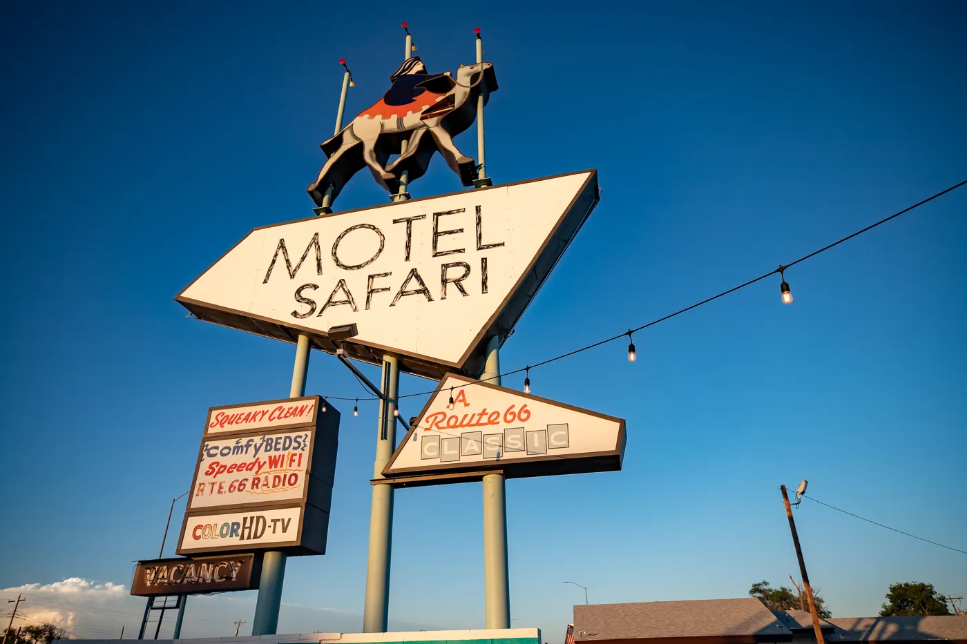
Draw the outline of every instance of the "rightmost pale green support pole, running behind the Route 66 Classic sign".
<instances>
[{"instance_id":1,"label":"rightmost pale green support pole, running behind the Route 66 Classic sign","mask_svg":"<svg viewBox=\"0 0 967 644\"><path fill-rule=\"evenodd\" d=\"M481 380L500 384L500 337L486 345ZM511 628L511 587L507 568L507 499L504 475L484 476L484 617L486 629Z\"/></svg>"}]
</instances>

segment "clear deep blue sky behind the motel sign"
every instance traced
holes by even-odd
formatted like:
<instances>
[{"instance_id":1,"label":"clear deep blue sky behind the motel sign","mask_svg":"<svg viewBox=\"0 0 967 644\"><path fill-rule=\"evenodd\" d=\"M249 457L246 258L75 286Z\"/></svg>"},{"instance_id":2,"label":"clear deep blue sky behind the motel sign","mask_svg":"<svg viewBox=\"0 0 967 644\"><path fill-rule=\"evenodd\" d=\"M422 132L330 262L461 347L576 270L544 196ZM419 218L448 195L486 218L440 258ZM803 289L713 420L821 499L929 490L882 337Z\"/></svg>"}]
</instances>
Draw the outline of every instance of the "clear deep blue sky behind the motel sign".
<instances>
[{"instance_id":1,"label":"clear deep blue sky behind the motel sign","mask_svg":"<svg viewBox=\"0 0 967 644\"><path fill-rule=\"evenodd\" d=\"M190 484L206 409L288 393L292 345L190 320L172 297L253 226L311 215L337 60L358 84L355 113L389 86L402 20L430 72L472 62L483 29L500 81L486 112L497 183L600 171L601 203L506 343L507 369L967 179L959 2L0 12L0 588L129 584ZM474 132L457 143L476 154ZM436 159L411 192L458 189ZM337 205L385 199L364 171ZM798 581L778 486L801 479L817 499L967 549L965 211L967 188L794 267L791 306L776 277L637 334L633 365L619 341L532 370L535 394L626 418L629 438L622 472L508 483L513 626L561 641L583 600L568 579L592 602ZM319 353L308 393L363 395ZM283 631L362 626L376 407L353 419L351 404L337 404L329 553L289 561ZM809 501L796 516L836 616L876 614L896 581L967 592L967 555ZM391 626L483 627L481 530L480 483L397 493ZM200 609L240 599L190 604L184 634L230 634L240 617L247 632L250 601ZM75 616L78 634L130 632L141 603L117 601Z\"/></svg>"}]
</instances>

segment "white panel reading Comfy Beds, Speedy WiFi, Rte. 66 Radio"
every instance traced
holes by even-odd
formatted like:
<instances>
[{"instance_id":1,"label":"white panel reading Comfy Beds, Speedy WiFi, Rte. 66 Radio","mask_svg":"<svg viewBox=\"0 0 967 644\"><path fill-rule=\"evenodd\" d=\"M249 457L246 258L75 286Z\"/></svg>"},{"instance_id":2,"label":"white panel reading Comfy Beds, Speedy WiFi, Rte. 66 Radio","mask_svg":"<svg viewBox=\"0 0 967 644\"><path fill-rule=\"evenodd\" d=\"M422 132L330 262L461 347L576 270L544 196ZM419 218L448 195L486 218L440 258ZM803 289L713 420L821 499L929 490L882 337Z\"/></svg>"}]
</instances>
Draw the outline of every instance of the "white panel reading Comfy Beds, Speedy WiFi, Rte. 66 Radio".
<instances>
[{"instance_id":1,"label":"white panel reading Comfy Beds, Speedy WiFi, Rte. 66 Radio","mask_svg":"<svg viewBox=\"0 0 967 644\"><path fill-rule=\"evenodd\" d=\"M209 439L201 446L189 508L302 501L311 440L311 429Z\"/></svg>"}]
</instances>

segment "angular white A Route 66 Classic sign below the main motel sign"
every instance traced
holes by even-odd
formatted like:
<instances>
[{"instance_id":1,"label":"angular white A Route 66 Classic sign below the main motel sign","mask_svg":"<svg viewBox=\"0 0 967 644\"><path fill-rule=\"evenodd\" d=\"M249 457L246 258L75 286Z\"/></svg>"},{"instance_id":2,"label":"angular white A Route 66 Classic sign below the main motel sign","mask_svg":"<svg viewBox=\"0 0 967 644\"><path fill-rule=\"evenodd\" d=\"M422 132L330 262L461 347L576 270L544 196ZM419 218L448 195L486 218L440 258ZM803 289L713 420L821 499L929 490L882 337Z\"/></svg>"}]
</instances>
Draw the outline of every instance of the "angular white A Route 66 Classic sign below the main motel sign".
<instances>
[{"instance_id":1,"label":"angular white A Route 66 Classic sign below the main motel sign","mask_svg":"<svg viewBox=\"0 0 967 644\"><path fill-rule=\"evenodd\" d=\"M383 475L432 484L438 475L435 483L496 471L507 478L606 472L620 470L624 454L622 419L450 374Z\"/></svg>"}]
</instances>

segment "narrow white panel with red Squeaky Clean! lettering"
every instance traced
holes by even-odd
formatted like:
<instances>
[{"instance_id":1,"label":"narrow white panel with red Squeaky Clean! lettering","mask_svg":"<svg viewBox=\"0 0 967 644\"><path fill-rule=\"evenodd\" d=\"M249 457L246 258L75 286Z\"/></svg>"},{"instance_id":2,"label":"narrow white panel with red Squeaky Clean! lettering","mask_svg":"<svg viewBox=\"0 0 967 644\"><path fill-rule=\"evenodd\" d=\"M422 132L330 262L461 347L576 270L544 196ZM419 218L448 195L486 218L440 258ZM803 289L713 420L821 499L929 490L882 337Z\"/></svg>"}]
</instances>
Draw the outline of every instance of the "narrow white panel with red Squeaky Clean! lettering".
<instances>
[{"instance_id":1,"label":"narrow white panel with red Squeaky Clean! lettering","mask_svg":"<svg viewBox=\"0 0 967 644\"><path fill-rule=\"evenodd\" d=\"M283 398L244 405L225 405L208 410L205 435L284 429L315 424L319 396Z\"/></svg>"}]
</instances>

